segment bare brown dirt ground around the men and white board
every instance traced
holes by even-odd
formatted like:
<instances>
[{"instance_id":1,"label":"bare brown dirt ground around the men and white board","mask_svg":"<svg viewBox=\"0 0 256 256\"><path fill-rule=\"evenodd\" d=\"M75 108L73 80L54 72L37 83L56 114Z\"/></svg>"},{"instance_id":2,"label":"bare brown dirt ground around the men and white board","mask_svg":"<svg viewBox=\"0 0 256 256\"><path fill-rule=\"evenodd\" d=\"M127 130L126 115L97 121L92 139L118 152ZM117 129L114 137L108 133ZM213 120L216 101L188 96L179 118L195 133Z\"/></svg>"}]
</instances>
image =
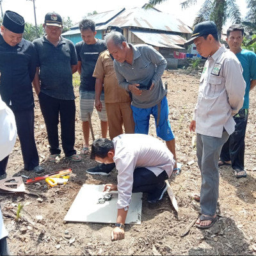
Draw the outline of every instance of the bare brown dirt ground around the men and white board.
<instances>
[{"instance_id":1,"label":"bare brown dirt ground around the men and white board","mask_svg":"<svg viewBox=\"0 0 256 256\"><path fill-rule=\"evenodd\" d=\"M177 198L179 214L167 195L157 204L148 204L143 196L141 225L127 225L125 239L110 241L111 225L93 223L63 223L70 205L82 184L116 182L116 172L108 177L89 175L86 169L95 166L88 156L81 163L68 162L63 154L58 163L47 162L47 133L38 100L35 97L35 137L40 164L46 173L72 168L66 185L49 188L45 181L26 185L24 194L0 194L4 223L9 231L8 243L13 255L256 255L256 90L250 96L250 114L246 132L245 164L248 177L236 179L228 166L220 168L220 219L209 230L190 228L198 216L199 204L191 193L200 191L200 171L196 149L192 145L195 133L189 132L198 93L198 74L185 70L167 70L170 121L176 137L177 159L182 172L169 182ZM79 93L76 87L76 149L83 146L79 121ZM93 113L93 129L100 138L100 123ZM154 122L150 135L156 136ZM193 162L194 161L194 162ZM188 164L189 163L189 164ZM8 163L8 177L35 173L22 170L20 144L17 141ZM15 221L18 204L24 205L21 218Z\"/></svg>"}]
</instances>

